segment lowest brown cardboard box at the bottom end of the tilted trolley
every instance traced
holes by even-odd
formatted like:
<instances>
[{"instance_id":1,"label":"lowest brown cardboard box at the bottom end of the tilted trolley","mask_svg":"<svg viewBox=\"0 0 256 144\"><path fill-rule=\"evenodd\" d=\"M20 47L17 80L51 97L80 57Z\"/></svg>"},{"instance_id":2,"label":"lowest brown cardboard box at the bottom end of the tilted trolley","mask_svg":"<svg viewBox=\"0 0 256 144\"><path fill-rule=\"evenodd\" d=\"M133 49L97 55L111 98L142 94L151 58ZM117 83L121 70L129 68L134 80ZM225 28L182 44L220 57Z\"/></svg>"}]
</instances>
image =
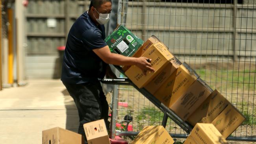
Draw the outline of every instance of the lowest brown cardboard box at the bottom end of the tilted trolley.
<instances>
[{"instance_id":1,"label":"lowest brown cardboard box at the bottom end of the tilted trolley","mask_svg":"<svg viewBox=\"0 0 256 144\"><path fill-rule=\"evenodd\" d=\"M232 105L228 105L212 122L224 138L242 124L245 117Z\"/></svg>"}]
</instances>

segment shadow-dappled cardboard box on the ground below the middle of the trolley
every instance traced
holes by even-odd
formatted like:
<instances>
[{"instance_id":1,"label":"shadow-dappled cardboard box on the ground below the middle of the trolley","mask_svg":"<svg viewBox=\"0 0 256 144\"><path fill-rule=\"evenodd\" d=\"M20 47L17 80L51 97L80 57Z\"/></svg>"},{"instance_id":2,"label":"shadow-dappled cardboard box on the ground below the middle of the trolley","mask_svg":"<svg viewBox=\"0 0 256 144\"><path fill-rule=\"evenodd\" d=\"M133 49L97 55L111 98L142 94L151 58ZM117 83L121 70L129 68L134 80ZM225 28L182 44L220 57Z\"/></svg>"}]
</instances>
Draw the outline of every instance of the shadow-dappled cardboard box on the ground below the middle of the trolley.
<instances>
[{"instance_id":1,"label":"shadow-dappled cardboard box on the ground below the middle of the trolley","mask_svg":"<svg viewBox=\"0 0 256 144\"><path fill-rule=\"evenodd\" d=\"M173 144L174 140L163 126L146 126L130 144Z\"/></svg>"}]
</instances>

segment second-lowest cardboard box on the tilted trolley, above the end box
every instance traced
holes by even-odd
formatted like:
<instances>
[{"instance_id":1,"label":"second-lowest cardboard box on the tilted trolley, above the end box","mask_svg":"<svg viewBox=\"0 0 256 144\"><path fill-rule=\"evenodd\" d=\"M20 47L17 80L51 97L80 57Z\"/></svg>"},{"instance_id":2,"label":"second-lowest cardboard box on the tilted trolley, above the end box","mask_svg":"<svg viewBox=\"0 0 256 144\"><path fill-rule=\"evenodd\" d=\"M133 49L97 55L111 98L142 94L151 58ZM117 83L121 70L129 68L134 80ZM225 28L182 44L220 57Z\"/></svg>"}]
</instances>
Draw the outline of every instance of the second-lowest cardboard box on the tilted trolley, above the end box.
<instances>
[{"instance_id":1,"label":"second-lowest cardboard box on the tilted trolley, above the end box","mask_svg":"<svg viewBox=\"0 0 256 144\"><path fill-rule=\"evenodd\" d=\"M217 90L197 108L197 110L187 118L187 122L192 126L197 123L211 123L230 104Z\"/></svg>"}]
</instances>

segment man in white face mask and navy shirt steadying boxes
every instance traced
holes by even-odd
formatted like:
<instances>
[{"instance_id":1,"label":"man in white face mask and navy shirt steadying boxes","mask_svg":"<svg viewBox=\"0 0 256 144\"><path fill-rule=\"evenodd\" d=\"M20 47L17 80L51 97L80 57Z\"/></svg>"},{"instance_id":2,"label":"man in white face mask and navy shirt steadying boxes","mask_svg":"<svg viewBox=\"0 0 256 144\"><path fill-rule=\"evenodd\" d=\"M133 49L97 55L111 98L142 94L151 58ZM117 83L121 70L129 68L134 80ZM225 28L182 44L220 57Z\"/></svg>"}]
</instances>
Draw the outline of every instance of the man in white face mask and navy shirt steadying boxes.
<instances>
[{"instance_id":1,"label":"man in white face mask and navy shirt steadying boxes","mask_svg":"<svg viewBox=\"0 0 256 144\"><path fill-rule=\"evenodd\" d=\"M78 133L85 138L83 124L104 118L108 127L108 103L100 79L111 75L108 64L136 65L154 71L146 57L112 54L105 39L111 0L91 0L89 10L72 25L63 57L61 81L74 99L79 115ZM85 143L87 140L85 138Z\"/></svg>"}]
</instances>

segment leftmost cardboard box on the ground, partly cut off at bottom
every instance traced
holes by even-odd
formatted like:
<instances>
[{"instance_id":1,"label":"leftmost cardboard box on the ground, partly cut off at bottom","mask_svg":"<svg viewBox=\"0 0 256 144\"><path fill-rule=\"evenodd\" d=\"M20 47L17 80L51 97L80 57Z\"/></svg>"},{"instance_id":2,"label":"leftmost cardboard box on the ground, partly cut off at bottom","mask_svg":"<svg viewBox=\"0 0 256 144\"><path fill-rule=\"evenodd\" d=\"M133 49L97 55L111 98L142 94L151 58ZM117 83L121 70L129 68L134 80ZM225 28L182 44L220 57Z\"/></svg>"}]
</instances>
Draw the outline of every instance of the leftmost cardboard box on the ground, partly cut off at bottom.
<instances>
[{"instance_id":1,"label":"leftmost cardboard box on the ground, partly cut off at bottom","mask_svg":"<svg viewBox=\"0 0 256 144\"><path fill-rule=\"evenodd\" d=\"M42 144L84 144L84 139L78 133L54 127L42 132Z\"/></svg>"}]
</instances>

